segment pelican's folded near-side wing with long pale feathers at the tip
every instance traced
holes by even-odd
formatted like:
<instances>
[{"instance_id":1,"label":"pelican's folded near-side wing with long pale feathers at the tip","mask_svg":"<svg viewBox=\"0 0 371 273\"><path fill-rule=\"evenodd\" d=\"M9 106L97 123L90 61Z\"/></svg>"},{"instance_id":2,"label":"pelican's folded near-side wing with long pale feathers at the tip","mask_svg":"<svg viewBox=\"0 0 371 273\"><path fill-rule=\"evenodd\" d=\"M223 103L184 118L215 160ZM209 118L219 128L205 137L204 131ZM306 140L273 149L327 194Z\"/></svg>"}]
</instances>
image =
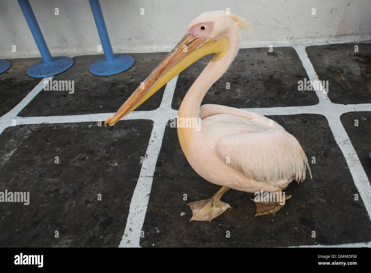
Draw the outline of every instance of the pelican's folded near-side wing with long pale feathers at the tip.
<instances>
[{"instance_id":1,"label":"pelican's folded near-side wing with long pale feathers at the tip","mask_svg":"<svg viewBox=\"0 0 371 273\"><path fill-rule=\"evenodd\" d=\"M308 160L298 140L280 129L256 129L252 131L249 126L245 132L239 129L238 133L220 137L216 146L219 156L256 181L272 184L304 180Z\"/></svg>"}]
</instances>

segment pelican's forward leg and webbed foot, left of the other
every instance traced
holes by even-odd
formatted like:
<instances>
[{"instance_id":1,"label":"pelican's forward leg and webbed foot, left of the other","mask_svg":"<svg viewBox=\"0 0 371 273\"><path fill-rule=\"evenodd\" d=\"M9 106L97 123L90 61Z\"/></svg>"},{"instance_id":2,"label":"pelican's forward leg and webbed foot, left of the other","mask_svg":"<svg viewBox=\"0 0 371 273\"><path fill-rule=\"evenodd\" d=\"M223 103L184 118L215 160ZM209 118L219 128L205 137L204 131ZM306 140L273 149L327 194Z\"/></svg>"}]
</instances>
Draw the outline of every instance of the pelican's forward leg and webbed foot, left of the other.
<instances>
[{"instance_id":1,"label":"pelican's forward leg and webbed foot, left of the other","mask_svg":"<svg viewBox=\"0 0 371 273\"><path fill-rule=\"evenodd\" d=\"M200 200L187 204L192 209L193 216L190 221L209 221L218 217L227 208L231 206L227 203L221 202L221 196L230 188L223 186L213 197L207 200Z\"/></svg>"}]
</instances>

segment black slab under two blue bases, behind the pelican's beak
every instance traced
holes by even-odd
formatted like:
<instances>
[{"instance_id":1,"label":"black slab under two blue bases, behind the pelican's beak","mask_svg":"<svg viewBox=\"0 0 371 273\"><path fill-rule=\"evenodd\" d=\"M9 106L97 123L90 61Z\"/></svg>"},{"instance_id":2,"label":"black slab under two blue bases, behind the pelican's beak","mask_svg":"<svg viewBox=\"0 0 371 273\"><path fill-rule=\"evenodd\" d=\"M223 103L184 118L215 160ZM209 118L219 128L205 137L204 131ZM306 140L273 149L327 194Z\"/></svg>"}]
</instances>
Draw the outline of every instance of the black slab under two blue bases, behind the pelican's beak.
<instances>
[{"instance_id":1,"label":"black slab under two blue bases, behind the pelican's beak","mask_svg":"<svg viewBox=\"0 0 371 273\"><path fill-rule=\"evenodd\" d=\"M55 75L53 81L74 81L74 93L42 90L20 113L20 117L66 116L113 113L167 55L166 52L130 53L134 65L119 74L97 76L89 65L104 55L76 56L73 66ZM165 86L136 110L154 110L161 104Z\"/></svg>"}]
</instances>

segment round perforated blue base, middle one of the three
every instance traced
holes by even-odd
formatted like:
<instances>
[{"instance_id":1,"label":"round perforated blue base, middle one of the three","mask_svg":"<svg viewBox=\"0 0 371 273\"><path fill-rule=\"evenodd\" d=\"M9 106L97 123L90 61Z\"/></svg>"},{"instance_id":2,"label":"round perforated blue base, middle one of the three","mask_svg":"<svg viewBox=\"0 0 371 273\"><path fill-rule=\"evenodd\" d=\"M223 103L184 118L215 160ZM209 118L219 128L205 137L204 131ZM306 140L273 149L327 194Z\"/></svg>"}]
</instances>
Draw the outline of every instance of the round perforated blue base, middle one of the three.
<instances>
[{"instance_id":1,"label":"round perforated blue base, middle one of the three","mask_svg":"<svg viewBox=\"0 0 371 273\"><path fill-rule=\"evenodd\" d=\"M53 61L45 64L39 61L27 69L27 75L34 78L44 78L66 71L73 65L73 59L66 56L53 57Z\"/></svg>"}]
</instances>

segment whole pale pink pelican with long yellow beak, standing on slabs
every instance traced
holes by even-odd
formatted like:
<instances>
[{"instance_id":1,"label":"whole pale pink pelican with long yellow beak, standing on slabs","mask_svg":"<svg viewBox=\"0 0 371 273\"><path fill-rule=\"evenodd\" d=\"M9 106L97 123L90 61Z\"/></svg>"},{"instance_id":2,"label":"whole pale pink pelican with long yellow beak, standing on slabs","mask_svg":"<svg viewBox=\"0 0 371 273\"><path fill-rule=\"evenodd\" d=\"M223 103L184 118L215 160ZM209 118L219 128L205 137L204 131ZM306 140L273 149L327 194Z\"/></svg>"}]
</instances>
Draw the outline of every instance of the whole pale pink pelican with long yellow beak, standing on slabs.
<instances>
[{"instance_id":1,"label":"whole pale pink pelican with long yellow beak, standing on slabs","mask_svg":"<svg viewBox=\"0 0 371 273\"><path fill-rule=\"evenodd\" d=\"M272 200L265 198L265 193L269 193L269 197L282 195L282 189L290 182L305 179L307 167L312 178L308 159L298 140L275 121L223 105L201 106L206 92L236 57L242 29L250 31L246 20L235 14L223 10L202 13L190 23L178 45L114 116L105 121L105 126L113 126L189 65L215 53L188 90L178 111L179 120L200 120L197 128L177 126L185 157L201 177L222 186L210 199L188 204L193 212L190 221L211 221L230 208L220 200L230 188L264 192L253 199L255 216L275 213L291 195Z\"/></svg>"}]
</instances>

